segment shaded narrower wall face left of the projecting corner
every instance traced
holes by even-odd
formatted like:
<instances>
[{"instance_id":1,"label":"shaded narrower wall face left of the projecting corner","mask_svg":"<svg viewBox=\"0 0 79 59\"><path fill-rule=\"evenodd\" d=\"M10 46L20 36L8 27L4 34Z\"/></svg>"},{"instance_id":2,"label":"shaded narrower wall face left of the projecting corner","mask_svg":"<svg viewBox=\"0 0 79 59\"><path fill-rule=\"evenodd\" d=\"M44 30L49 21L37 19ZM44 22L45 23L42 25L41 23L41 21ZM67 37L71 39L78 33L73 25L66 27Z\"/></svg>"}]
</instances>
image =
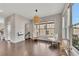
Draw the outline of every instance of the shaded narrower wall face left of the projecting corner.
<instances>
[{"instance_id":1,"label":"shaded narrower wall face left of the projecting corner","mask_svg":"<svg viewBox=\"0 0 79 59\"><path fill-rule=\"evenodd\" d=\"M15 35L14 35L14 33L15 33L14 14L5 18L4 24L5 24L5 28L4 28L5 40L14 40L15 39ZM8 25L11 26L11 29L9 31L10 33L8 32Z\"/></svg>"}]
</instances>

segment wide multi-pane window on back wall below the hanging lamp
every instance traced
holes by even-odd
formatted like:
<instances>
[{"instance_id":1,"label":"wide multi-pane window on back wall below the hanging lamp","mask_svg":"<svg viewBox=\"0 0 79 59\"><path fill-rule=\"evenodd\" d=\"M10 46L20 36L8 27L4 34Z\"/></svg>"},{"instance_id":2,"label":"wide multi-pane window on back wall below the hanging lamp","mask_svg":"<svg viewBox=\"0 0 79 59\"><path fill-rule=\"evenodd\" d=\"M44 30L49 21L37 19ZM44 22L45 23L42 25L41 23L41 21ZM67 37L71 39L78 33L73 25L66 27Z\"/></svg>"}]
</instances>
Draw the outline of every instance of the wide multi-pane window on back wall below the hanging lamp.
<instances>
[{"instance_id":1,"label":"wide multi-pane window on back wall below the hanging lamp","mask_svg":"<svg viewBox=\"0 0 79 59\"><path fill-rule=\"evenodd\" d=\"M33 33L35 34L34 37L39 36L48 36L52 37L55 32L55 24L54 22L49 23L41 23L40 25L34 25Z\"/></svg>"}]
</instances>

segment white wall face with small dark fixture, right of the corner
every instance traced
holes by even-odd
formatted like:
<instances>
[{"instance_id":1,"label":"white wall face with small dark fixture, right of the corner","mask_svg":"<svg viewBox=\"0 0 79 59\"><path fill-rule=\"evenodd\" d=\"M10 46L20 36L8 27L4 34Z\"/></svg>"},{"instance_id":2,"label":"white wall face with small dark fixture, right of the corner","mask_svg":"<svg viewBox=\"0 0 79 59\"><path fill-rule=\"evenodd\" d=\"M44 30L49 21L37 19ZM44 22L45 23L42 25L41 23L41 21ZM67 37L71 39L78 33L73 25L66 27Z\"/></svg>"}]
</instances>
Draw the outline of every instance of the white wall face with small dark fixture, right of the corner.
<instances>
[{"instance_id":1,"label":"white wall face with small dark fixture, right of the corner","mask_svg":"<svg viewBox=\"0 0 79 59\"><path fill-rule=\"evenodd\" d=\"M29 24L28 19L20 15L15 16L15 41L16 42L25 40L25 24ZM18 32L23 35L18 36L17 34Z\"/></svg>"}]
</instances>

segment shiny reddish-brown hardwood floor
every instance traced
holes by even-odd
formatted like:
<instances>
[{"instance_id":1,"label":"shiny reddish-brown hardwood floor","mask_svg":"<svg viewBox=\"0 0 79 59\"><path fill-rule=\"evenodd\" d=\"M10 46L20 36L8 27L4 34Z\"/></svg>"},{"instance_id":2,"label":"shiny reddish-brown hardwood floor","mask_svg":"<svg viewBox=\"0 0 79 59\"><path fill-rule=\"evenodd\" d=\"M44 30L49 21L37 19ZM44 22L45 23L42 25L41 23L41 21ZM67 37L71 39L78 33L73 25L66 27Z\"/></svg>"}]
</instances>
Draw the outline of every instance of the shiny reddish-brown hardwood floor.
<instances>
[{"instance_id":1,"label":"shiny reddish-brown hardwood floor","mask_svg":"<svg viewBox=\"0 0 79 59\"><path fill-rule=\"evenodd\" d=\"M58 49L50 49L49 43L26 40L20 43L0 41L0 56L59 56Z\"/></svg>"}]
</instances>

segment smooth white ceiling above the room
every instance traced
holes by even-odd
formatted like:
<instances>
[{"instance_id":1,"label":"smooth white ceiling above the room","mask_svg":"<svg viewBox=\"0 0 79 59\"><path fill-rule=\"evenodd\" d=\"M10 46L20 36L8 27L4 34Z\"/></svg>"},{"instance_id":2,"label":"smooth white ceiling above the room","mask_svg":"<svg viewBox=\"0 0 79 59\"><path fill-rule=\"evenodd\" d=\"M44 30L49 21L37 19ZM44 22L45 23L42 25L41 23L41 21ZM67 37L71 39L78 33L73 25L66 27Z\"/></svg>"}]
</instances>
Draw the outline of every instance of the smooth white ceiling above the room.
<instances>
[{"instance_id":1,"label":"smooth white ceiling above the room","mask_svg":"<svg viewBox=\"0 0 79 59\"><path fill-rule=\"evenodd\" d=\"M0 16L7 17L13 13L20 14L29 19L35 15L35 9L38 9L38 15L45 17L61 13L64 3L0 3Z\"/></svg>"}]
</instances>

